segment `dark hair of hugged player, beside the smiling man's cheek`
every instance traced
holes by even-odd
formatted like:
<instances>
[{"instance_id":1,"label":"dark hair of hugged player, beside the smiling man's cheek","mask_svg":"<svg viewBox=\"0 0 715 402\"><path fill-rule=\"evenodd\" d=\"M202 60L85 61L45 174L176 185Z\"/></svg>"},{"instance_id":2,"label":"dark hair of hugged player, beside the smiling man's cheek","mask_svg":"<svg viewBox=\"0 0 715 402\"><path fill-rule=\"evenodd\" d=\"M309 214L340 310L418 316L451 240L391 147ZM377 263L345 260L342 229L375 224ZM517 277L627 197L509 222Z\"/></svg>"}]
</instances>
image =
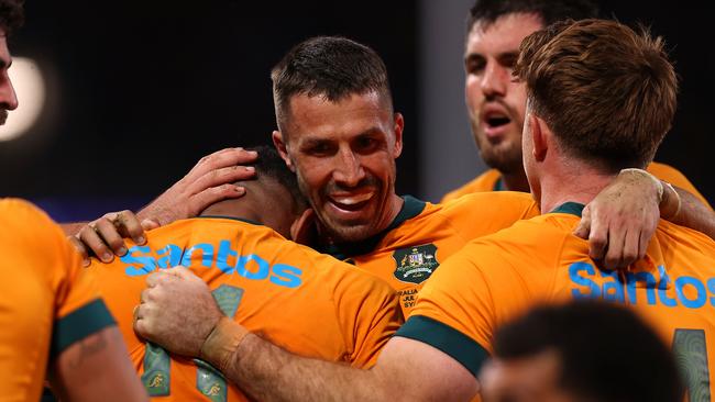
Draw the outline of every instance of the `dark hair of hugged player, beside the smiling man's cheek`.
<instances>
[{"instance_id":1,"label":"dark hair of hugged player, beside the smiling man's cheek","mask_svg":"<svg viewBox=\"0 0 715 402\"><path fill-rule=\"evenodd\" d=\"M258 158L255 163L248 165L255 168L256 178L260 179L265 176L283 186L288 190L294 200L293 212L297 214L304 211L308 206L308 202L298 188L298 179L296 178L296 175L288 169L288 166L286 166L285 160L283 160L278 152L273 146L266 145L260 145L248 149L258 153Z\"/></svg>"}]
</instances>

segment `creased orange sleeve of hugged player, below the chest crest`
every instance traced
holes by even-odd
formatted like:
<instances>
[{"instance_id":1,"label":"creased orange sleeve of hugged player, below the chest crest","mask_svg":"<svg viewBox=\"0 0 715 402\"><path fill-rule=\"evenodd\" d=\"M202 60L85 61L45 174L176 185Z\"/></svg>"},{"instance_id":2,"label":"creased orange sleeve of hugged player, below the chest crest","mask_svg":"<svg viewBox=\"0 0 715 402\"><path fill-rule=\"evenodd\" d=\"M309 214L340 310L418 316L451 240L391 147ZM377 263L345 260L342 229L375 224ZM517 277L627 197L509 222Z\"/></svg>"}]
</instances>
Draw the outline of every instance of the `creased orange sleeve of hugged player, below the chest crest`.
<instances>
[{"instance_id":1,"label":"creased orange sleeve of hugged player, below the chest crest","mask_svg":"<svg viewBox=\"0 0 715 402\"><path fill-rule=\"evenodd\" d=\"M333 293L336 314L352 350L351 365L370 368L405 319L393 288L369 272L349 269Z\"/></svg>"}]
</instances>

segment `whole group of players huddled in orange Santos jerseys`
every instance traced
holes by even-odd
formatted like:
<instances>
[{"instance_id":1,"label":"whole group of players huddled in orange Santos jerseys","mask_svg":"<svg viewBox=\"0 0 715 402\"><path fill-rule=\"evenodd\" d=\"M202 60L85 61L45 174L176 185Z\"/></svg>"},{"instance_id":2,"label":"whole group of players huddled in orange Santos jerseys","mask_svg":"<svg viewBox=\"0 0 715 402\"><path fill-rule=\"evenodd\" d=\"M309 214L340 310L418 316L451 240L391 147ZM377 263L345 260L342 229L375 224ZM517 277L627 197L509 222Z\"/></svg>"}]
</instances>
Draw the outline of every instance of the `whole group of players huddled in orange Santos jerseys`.
<instances>
[{"instance_id":1,"label":"whole group of players huddled in orange Santos jerseys","mask_svg":"<svg viewBox=\"0 0 715 402\"><path fill-rule=\"evenodd\" d=\"M18 7L0 2L6 113ZM465 93L492 169L441 203L395 192L405 122L385 65L333 36L272 70L273 146L209 155L136 214L61 228L1 200L2 398L37 400L47 373L61 400L710 400L715 213L651 163L676 76L660 38L595 15L476 2ZM635 367L664 380L634 369L600 387L561 381L557 344L504 351L539 338L499 337L507 323L584 299L635 311L686 381L653 348ZM510 358L542 349L559 351L538 360L556 377L505 380Z\"/></svg>"}]
</instances>

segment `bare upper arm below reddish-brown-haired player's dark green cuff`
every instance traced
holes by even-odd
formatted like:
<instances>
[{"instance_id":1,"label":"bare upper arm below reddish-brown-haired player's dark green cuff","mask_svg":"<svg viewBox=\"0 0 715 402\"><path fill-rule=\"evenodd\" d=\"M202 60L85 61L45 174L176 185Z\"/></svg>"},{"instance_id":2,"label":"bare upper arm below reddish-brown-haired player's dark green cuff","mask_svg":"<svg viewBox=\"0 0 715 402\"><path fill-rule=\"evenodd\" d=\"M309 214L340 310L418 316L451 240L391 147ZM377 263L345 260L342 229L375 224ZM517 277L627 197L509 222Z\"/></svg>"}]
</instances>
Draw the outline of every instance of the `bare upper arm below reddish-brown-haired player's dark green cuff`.
<instances>
[{"instance_id":1,"label":"bare upper arm below reddish-brown-haired player's dark green cuff","mask_svg":"<svg viewBox=\"0 0 715 402\"><path fill-rule=\"evenodd\" d=\"M448 354L426 343L394 337L372 368L394 390L395 401L470 401L476 378ZM387 383L388 382L388 383Z\"/></svg>"}]
</instances>

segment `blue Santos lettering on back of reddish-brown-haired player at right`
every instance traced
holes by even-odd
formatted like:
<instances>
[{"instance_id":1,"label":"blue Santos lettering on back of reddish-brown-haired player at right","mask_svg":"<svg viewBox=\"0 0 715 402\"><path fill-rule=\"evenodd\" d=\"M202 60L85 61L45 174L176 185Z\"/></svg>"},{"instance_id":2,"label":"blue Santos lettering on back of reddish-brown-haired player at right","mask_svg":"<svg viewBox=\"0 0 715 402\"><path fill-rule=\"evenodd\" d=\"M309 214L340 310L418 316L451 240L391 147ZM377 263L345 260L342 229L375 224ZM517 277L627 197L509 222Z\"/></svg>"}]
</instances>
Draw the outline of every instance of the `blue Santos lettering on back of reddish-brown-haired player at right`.
<instances>
[{"instance_id":1,"label":"blue Santos lettering on back of reddish-brown-haired player at right","mask_svg":"<svg viewBox=\"0 0 715 402\"><path fill-rule=\"evenodd\" d=\"M658 277L652 272L603 271L587 263L574 263L569 267L569 278L576 286L571 289L574 299L594 298L688 309L700 309L705 304L715 306L715 278L708 278L706 282L686 276L671 278L663 266L658 267Z\"/></svg>"}]
</instances>

